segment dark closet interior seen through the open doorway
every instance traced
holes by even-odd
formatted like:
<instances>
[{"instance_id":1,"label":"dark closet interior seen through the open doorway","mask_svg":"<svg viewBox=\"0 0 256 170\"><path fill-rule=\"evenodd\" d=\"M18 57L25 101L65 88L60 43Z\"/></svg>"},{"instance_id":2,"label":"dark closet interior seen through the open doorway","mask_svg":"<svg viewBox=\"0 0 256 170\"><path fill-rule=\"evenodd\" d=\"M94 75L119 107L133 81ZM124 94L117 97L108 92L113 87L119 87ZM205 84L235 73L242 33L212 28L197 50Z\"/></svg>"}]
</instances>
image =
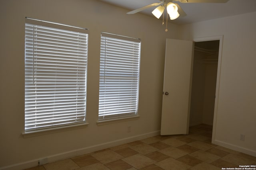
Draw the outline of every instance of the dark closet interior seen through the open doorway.
<instances>
[{"instance_id":1,"label":"dark closet interior seen through the open doorway","mask_svg":"<svg viewBox=\"0 0 256 170\"><path fill-rule=\"evenodd\" d=\"M213 125L220 40L194 43L190 126Z\"/></svg>"}]
</instances>

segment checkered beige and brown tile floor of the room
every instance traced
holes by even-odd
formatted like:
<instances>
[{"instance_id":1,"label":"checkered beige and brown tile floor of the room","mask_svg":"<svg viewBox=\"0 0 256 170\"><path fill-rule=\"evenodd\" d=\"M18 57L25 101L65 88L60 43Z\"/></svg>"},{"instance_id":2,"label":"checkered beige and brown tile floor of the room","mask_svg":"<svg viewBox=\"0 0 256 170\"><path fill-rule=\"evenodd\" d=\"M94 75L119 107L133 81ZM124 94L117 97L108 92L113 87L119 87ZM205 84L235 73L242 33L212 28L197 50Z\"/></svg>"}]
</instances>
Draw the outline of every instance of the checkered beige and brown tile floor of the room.
<instances>
[{"instance_id":1,"label":"checkered beige and brown tile floor of the room","mask_svg":"<svg viewBox=\"0 0 256 170\"><path fill-rule=\"evenodd\" d=\"M211 143L212 127L154 136L27 170L221 170L255 165L256 157Z\"/></svg>"}]
</instances>

